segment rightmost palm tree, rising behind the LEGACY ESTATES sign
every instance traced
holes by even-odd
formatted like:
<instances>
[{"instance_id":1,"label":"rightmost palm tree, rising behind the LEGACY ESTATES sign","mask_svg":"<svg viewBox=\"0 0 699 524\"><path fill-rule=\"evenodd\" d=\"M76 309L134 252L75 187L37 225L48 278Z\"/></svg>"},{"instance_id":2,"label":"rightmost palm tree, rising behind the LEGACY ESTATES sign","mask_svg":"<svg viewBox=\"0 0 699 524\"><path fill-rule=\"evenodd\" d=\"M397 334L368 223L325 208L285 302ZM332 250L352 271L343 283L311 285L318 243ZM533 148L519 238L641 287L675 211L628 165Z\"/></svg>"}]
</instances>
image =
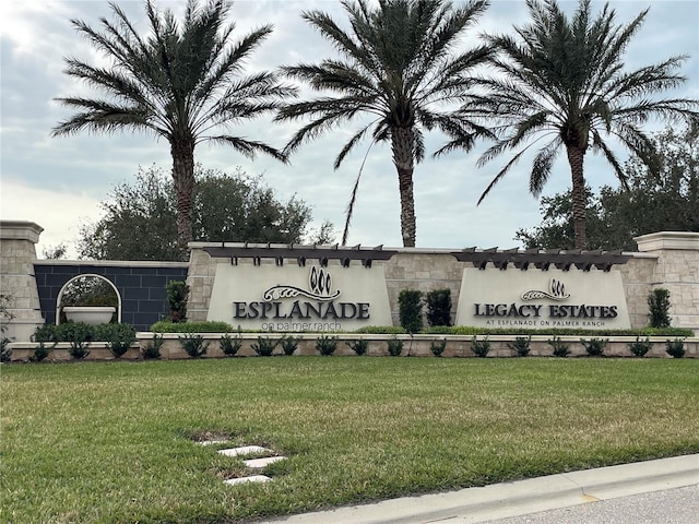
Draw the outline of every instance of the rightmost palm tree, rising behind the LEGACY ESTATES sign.
<instances>
[{"instance_id":1,"label":"rightmost palm tree, rising behind the LEGACY ESTATES sign","mask_svg":"<svg viewBox=\"0 0 699 524\"><path fill-rule=\"evenodd\" d=\"M653 174L662 154L641 129L651 118L697 120L698 100L652 98L679 86L675 73L687 58L677 56L635 71L624 71L624 52L638 33L648 10L628 25L616 25L608 4L596 17L590 0L581 0L568 20L556 0L528 0L532 22L514 27L512 36L488 40L501 55L493 61L503 73L487 81L491 93L473 99L471 108L496 122L498 140L479 159L481 165L518 150L496 175L481 201L510 168L540 140L530 176L530 191L538 195L554 160L565 146L572 176L572 215L576 248L585 248L585 153L601 153L627 187L626 175L607 142L616 139ZM607 141L605 141L607 140Z\"/></svg>"}]
</instances>

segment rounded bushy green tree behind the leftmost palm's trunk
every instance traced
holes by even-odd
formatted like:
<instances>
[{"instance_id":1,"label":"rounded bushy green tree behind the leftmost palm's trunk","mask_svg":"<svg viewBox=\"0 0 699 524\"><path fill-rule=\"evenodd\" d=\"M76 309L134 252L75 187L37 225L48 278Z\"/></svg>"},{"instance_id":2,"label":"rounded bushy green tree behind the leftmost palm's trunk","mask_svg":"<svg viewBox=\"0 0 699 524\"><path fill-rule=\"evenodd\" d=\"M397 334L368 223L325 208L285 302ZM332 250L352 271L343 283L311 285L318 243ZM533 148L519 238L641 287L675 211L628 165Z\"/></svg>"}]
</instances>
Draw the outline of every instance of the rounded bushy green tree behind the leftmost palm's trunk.
<instances>
[{"instance_id":1,"label":"rounded bushy green tree behind the leftmost palm's trunk","mask_svg":"<svg viewBox=\"0 0 699 524\"><path fill-rule=\"evenodd\" d=\"M80 257L178 260L173 186L156 167L140 170L134 183L116 186L111 200L102 203L105 215L81 226ZM227 176L198 166L193 202L198 241L301 243L311 221L311 210L304 201L296 196L280 201L262 177L248 177L239 170ZM325 234L328 227L332 230L332 225L324 227Z\"/></svg>"}]
</instances>

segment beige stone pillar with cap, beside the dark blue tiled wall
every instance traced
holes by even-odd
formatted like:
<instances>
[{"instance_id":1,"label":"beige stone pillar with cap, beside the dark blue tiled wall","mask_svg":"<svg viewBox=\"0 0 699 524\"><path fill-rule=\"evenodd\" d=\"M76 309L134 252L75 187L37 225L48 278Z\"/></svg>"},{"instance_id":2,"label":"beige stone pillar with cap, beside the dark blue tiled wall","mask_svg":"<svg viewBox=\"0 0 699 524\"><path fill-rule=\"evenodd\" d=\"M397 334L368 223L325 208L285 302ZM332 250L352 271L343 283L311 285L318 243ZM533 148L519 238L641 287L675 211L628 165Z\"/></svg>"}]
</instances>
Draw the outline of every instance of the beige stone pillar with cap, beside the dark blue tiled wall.
<instances>
[{"instance_id":1,"label":"beige stone pillar with cap, beside the dark blue tiled wall","mask_svg":"<svg viewBox=\"0 0 699 524\"><path fill-rule=\"evenodd\" d=\"M0 222L0 293L12 315L4 336L25 342L44 324L34 276L36 243L44 228L33 222Z\"/></svg>"}]
</instances>

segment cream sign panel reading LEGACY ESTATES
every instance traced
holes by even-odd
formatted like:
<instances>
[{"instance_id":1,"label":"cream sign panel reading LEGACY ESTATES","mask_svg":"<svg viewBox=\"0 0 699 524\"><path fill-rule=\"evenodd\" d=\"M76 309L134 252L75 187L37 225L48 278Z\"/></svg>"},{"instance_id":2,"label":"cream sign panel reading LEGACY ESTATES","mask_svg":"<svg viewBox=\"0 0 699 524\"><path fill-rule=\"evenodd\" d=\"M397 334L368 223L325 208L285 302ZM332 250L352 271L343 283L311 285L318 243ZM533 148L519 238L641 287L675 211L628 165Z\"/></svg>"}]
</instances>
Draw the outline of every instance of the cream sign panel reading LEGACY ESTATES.
<instances>
[{"instance_id":1,"label":"cream sign panel reading LEGACY ESTATES","mask_svg":"<svg viewBox=\"0 0 699 524\"><path fill-rule=\"evenodd\" d=\"M457 325L629 329L618 271L464 269Z\"/></svg>"}]
</instances>

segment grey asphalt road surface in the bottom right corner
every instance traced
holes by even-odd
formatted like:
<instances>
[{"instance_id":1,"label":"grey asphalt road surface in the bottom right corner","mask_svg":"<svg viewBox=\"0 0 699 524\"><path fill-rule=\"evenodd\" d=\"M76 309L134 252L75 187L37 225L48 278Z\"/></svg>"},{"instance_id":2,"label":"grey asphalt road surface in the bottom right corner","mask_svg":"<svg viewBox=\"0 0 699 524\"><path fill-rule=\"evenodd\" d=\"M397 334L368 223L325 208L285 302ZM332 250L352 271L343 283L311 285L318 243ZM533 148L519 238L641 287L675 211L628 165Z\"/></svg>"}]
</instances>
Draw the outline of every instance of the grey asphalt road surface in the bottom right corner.
<instances>
[{"instance_id":1,"label":"grey asphalt road surface in the bottom right corner","mask_svg":"<svg viewBox=\"0 0 699 524\"><path fill-rule=\"evenodd\" d=\"M457 524L458 521L442 521ZM488 521L488 524L697 524L699 484L559 510Z\"/></svg>"}]
</instances>

